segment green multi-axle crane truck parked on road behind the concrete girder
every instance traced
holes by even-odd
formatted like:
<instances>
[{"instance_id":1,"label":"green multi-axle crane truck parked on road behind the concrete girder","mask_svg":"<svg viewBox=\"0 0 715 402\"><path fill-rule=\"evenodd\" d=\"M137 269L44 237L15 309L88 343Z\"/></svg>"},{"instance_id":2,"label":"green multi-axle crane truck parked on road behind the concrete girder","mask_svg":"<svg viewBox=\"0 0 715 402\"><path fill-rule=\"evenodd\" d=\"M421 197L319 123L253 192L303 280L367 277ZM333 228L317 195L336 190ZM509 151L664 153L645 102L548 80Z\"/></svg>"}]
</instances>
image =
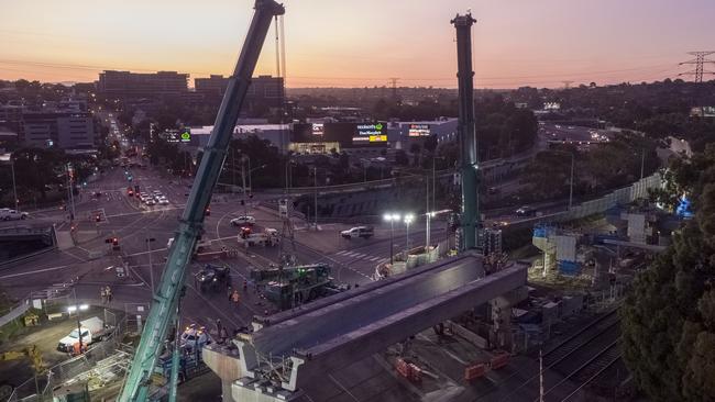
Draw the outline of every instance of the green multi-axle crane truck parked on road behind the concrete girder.
<instances>
[{"instance_id":1,"label":"green multi-axle crane truck parked on road behind the concrete girder","mask_svg":"<svg viewBox=\"0 0 715 402\"><path fill-rule=\"evenodd\" d=\"M333 283L330 266L312 264L286 268L253 269L251 280L278 310L287 310L321 297L348 290Z\"/></svg>"}]
</instances>

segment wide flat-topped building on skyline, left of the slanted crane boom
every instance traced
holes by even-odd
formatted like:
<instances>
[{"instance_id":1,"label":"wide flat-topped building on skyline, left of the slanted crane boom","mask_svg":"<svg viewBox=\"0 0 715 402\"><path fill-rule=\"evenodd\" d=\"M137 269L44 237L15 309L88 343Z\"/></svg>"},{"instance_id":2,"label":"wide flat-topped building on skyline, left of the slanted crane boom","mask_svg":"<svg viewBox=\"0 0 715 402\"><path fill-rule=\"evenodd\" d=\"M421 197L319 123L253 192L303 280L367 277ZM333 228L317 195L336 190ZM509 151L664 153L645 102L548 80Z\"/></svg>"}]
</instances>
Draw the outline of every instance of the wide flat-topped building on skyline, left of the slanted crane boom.
<instances>
[{"instance_id":1,"label":"wide flat-topped building on skyline, left of the slanted crane boom","mask_svg":"<svg viewBox=\"0 0 715 402\"><path fill-rule=\"evenodd\" d=\"M162 97L188 92L188 74L176 71L130 72L106 70L99 74L97 91L108 97Z\"/></svg>"}]
</instances>

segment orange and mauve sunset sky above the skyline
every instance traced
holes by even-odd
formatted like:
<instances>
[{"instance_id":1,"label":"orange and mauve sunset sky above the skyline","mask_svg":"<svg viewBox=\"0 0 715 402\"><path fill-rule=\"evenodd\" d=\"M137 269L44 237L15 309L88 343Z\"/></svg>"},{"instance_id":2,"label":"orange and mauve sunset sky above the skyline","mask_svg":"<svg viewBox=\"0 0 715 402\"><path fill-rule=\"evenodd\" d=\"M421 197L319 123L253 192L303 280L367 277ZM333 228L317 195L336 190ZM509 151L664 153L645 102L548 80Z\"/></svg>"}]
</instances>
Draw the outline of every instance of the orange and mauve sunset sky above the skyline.
<instances>
[{"instance_id":1,"label":"orange and mauve sunset sky above the skyline","mask_svg":"<svg viewBox=\"0 0 715 402\"><path fill-rule=\"evenodd\" d=\"M0 78L233 68L251 0L0 0ZM454 29L474 25L477 88L674 78L715 49L712 0L286 0L288 87L455 87ZM273 35L273 29L271 31ZM275 74L266 41L258 74ZM715 66L712 66L715 70ZM193 86L193 81L190 82Z\"/></svg>"}]
</instances>

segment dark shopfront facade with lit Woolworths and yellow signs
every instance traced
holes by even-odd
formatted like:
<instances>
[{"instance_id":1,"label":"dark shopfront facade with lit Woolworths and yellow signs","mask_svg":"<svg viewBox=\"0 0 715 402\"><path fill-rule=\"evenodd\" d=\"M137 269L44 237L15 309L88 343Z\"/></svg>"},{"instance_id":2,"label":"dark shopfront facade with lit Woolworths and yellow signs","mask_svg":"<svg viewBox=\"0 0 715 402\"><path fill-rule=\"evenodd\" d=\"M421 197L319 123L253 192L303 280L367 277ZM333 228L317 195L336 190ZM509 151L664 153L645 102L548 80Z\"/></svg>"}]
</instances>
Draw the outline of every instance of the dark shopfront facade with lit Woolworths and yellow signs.
<instances>
[{"instance_id":1,"label":"dark shopfront facade with lit Woolworths and yellow signs","mask_svg":"<svg viewBox=\"0 0 715 402\"><path fill-rule=\"evenodd\" d=\"M384 123L297 123L290 134L293 143L338 143L344 148L387 145Z\"/></svg>"}]
</instances>

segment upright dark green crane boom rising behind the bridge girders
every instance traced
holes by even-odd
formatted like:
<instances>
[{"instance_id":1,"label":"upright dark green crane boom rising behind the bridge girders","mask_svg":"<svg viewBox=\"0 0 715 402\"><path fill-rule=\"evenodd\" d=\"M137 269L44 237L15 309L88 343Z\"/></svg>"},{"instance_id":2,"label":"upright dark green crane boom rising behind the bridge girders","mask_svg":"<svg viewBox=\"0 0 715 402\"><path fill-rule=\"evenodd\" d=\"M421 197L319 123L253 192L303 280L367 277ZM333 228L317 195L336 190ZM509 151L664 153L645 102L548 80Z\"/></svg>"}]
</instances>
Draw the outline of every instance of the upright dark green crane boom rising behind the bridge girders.
<instances>
[{"instance_id":1,"label":"upright dark green crane boom rising behind the bridge girders","mask_svg":"<svg viewBox=\"0 0 715 402\"><path fill-rule=\"evenodd\" d=\"M472 70L472 25L476 22L471 13L457 14L451 21L457 30L457 65L460 100L458 132L461 152L463 242L461 252L476 247L477 206L477 152L474 131L474 71Z\"/></svg>"}]
</instances>

